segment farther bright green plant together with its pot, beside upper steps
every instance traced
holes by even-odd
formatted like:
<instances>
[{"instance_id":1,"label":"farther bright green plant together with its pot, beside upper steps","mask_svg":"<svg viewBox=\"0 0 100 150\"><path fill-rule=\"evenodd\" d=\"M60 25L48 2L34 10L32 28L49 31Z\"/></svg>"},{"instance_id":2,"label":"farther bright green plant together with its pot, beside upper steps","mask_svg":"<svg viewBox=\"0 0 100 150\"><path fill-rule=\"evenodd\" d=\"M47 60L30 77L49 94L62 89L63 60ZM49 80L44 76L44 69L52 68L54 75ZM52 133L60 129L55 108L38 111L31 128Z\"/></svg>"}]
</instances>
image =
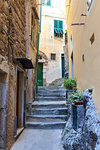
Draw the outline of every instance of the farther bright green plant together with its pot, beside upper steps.
<instances>
[{"instance_id":1,"label":"farther bright green plant together with its pot, beside upper steps","mask_svg":"<svg viewBox=\"0 0 100 150\"><path fill-rule=\"evenodd\" d=\"M71 95L71 93L73 91L77 90L77 81L75 78L70 78L70 79L65 79L64 80L64 87L67 89L66 90L66 99L69 98L69 95Z\"/></svg>"}]
</instances>

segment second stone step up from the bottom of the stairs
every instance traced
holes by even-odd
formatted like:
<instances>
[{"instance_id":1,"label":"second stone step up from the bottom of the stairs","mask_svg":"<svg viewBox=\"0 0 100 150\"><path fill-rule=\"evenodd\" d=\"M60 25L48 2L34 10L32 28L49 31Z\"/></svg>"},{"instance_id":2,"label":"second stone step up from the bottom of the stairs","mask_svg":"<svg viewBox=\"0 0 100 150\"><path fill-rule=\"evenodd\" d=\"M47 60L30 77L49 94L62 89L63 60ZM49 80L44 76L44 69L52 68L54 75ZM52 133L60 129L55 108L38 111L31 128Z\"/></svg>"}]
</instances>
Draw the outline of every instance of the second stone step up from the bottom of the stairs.
<instances>
[{"instance_id":1,"label":"second stone step up from the bottom of the stairs","mask_svg":"<svg viewBox=\"0 0 100 150\"><path fill-rule=\"evenodd\" d=\"M27 115L27 122L62 122L67 121L67 115Z\"/></svg>"}]
</instances>

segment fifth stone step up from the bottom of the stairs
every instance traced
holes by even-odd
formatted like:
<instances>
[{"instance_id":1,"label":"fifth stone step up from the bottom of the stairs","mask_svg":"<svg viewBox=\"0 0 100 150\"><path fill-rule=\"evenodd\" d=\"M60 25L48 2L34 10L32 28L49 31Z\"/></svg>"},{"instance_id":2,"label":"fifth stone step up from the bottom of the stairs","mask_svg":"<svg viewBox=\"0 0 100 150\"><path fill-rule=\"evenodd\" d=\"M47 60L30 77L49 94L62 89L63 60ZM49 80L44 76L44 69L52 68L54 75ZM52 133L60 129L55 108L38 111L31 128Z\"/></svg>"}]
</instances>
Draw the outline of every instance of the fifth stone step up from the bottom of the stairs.
<instances>
[{"instance_id":1,"label":"fifth stone step up from the bottom of the stairs","mask_svg":"<svg viewBox=\"0 0 100 150\"><path fill-rule=\"evenodd\" d=\"M35 101L65 101L65 97L39 97L35 98Z\"/></svg>"}]
</instances>

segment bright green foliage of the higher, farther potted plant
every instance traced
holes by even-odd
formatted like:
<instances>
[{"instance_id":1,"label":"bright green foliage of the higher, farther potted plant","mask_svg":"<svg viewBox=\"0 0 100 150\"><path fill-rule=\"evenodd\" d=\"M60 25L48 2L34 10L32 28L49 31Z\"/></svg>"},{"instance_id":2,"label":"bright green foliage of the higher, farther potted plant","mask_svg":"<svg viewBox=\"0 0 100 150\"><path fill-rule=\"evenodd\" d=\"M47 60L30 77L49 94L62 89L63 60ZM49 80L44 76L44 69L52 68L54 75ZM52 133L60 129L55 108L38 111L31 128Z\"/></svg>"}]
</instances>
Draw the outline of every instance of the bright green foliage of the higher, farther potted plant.
<instances>
[{"instance_id":1,"label":"bright green foliage of the higher, farther potted plant","mask_svg":"<svg viewBox=\"0 0 100 150\"><path fill-rule=\"evenodd\" d=\"M64 80L64 87L68 90L76 90L77 89L77 81L76 79L65 79Z\"/></svg>"}]
</instances>

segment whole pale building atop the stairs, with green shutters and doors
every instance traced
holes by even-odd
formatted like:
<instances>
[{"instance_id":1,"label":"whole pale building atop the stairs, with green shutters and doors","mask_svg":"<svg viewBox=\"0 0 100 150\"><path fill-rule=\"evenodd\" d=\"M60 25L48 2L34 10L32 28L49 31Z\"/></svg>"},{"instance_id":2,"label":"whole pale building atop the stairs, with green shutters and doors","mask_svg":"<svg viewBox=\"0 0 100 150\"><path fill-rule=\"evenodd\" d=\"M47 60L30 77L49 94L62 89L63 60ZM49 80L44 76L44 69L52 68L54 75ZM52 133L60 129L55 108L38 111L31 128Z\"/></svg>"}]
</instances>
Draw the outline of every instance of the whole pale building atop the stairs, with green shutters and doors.
<instances>
[{"instance_id":1,"label":"whole pale building atop the stairs, with green shutters and doors","mask_svg":"<svg viewBox=\"0 0 100 150\"><path fill-rule=\"evenodd\" d=\"M38 84L46 86L64 77L65 0L44 0L39 45Z\"/></svg>"}]
</instances>

